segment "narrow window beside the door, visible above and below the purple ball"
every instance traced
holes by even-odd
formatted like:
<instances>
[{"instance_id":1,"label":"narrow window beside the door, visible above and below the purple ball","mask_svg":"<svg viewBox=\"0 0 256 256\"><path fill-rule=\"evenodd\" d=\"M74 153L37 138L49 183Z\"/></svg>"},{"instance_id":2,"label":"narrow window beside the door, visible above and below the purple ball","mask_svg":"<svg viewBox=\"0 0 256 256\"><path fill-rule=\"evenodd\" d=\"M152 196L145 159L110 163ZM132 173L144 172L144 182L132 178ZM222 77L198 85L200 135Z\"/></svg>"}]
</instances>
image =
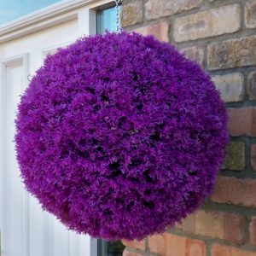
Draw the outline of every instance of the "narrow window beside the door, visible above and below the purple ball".
<instances>
[{"instance_id":1,"label":"narrow window beside the door, visible above and below the purple ball","mask_svg":"<svg viewBox=\"0 0 256 256\"><path fill-rule=\"evenodd\" d=\"M96 12L96 32L102 34L106 30L117 31L115 7L101 9ZM121 241L97 241L97 256L122 256L125 246Z\"/></svg>"}]
</instances>

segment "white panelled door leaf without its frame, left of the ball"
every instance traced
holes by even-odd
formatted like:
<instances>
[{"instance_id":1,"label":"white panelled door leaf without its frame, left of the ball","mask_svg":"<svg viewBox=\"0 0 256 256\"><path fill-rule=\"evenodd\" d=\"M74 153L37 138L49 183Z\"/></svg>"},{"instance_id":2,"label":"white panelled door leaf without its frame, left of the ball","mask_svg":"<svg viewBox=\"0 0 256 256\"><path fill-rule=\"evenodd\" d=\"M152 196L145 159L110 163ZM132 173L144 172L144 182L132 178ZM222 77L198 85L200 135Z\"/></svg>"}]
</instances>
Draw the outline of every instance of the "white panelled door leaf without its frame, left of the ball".
<instances>
[{"instance_id":1,"label":"white panelled door leaf without its frame, left of the ball","mask_svg":"<svg viewBox=\"0 0 256 256\"><path fill-rule=\"evenodd\" d=\"M89 256L89 236L67 229L28 195L15 160L15 113L26 87L28 55L2 61L1 249L3 256Z\"/></svg>"}]
</instances>

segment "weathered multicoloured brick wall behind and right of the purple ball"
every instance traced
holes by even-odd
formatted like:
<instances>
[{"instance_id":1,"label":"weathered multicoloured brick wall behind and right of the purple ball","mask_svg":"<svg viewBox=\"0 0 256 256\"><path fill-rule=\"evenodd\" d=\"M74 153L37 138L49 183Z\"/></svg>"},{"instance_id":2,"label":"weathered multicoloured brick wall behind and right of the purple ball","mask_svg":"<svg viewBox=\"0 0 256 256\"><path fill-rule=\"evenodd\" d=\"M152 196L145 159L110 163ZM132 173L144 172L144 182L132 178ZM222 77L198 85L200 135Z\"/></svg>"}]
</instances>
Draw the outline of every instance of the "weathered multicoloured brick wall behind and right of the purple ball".
<instances>
[{"instance_id":1,"label":"weathered multicoloured brick wall behind and right of the purple ball","mask_svg":"<svg viewBox=\"0 0 256 256\"><path fill-rule=\"evenodd\" d=\"M230 145L201 210L124 256L256 256L256 0L123 0L122 26L175 44L212 75Z\"/></svg>"}]
</instances>

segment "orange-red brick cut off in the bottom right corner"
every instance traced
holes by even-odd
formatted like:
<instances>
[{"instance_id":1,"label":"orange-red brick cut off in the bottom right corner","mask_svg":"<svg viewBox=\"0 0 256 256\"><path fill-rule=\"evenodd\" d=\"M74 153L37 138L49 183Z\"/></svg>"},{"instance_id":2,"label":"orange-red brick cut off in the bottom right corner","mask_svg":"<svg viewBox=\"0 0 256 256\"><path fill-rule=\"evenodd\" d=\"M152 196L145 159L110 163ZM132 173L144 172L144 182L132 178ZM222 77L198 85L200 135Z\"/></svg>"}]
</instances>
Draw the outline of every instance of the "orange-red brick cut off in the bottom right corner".
<instances>
[{"instance_id":1,"label":"orange-red brick cut off in the bottom right corner","mask_svg":"<svg viewBox=\"0 0 256 256\"><path fill-rule=\"evenodd\" d=\"M256 256L256 252L242 251L236 247L222 246L217 243L212 245L212 256Z\"/></svg>"}]
</instances>

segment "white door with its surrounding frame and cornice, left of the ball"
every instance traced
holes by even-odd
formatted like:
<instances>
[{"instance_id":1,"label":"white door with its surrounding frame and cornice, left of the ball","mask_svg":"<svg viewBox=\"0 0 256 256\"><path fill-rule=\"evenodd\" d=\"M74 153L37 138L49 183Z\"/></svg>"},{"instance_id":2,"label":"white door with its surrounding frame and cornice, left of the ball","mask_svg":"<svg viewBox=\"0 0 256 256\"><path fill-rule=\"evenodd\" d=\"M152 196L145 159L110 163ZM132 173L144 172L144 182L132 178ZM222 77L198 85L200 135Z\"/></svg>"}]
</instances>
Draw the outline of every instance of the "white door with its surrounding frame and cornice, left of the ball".
<instances>
[{"instance_id":1,"label":"white door with its surrounding frame and cornice, left of the ball","mask_svg":"<svg viewBox=\"0 0 256 256\"><path fill-rule=\"evenodd\" d=\"M29 75L45 55L95 30L96 7L111 1L64 2L0 26L1 256L96 256L96 241L68 231L28 195L15 160L15 112Z\"/></svg>"}]
</instances>

